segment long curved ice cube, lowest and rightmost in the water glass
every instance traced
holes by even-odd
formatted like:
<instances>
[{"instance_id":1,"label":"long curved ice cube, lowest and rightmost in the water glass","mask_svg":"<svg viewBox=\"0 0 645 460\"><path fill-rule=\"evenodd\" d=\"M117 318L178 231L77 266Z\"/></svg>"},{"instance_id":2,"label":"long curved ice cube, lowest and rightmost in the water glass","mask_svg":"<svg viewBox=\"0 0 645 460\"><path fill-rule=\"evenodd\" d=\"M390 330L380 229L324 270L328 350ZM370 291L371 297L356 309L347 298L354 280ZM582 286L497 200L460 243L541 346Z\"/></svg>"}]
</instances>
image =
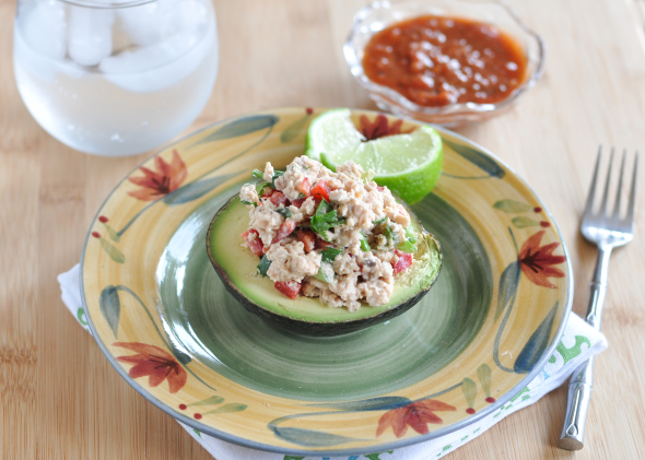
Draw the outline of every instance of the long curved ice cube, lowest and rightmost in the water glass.
<instances>
[{"instance_id":1,"label":"long curved ice cube, lowest and rightmost in the water glass","mask_svg":"<svg viewBox=\"0 0 645 460\"><path fill-rule=\"evenodd\" d=\"M107 80L128 91L160 91L192 73L207 54L216 52L214 34L214 24L201 36L181 32L156 45L105 58L99 70Z\"/></svg>"}]
</instances>

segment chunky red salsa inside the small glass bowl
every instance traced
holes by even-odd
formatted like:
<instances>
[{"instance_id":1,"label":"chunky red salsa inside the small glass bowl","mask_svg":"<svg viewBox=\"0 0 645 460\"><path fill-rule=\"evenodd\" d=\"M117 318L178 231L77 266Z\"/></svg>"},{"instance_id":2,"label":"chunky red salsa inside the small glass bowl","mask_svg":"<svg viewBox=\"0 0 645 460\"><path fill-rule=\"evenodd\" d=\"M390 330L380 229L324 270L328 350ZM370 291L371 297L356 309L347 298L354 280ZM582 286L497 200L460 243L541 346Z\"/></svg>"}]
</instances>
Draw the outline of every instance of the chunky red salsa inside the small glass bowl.
<instances>
[{"instance_id":1,"label":"chunky red salsa inside the small glass bowl","mask_svg":"<svg viewBox=\"0 0 645 460\"><path fill-rule=\"evenodd\" d=\"M370 80L431 107L503 101L526 66L521 45L495 26L433 15L378 32L363 58Z\"/></svg>"}]
</instances>

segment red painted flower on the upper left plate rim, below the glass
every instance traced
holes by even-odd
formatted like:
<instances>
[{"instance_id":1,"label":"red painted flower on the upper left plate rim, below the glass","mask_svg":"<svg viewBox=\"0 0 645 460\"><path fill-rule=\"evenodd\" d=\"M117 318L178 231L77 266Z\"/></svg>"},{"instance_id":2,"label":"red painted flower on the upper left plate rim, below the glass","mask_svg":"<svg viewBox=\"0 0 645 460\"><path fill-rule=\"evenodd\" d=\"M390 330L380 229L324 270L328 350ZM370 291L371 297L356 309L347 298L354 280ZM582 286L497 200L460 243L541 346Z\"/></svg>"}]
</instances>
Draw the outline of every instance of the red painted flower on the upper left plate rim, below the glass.
<instances>
[{"instance_id":1,"label":"red painted flower on the upper left plate rim, below the glass","mask_svg":"<svg viewBox=\"0 0 645 460\"><path fill-rule=\"evenodd\" d=\"M155 156L154 167L156 172L141 166L139 169L143 173L143 176L128 177L130 182L141 187L137 190L129 191L128 194L130 197L143 201L159 200L177 190L188 175L186 164L176 150L173 150L173 160L171 160L171 163L167 163L159 155Z\"/></svg>"}]
</instances>

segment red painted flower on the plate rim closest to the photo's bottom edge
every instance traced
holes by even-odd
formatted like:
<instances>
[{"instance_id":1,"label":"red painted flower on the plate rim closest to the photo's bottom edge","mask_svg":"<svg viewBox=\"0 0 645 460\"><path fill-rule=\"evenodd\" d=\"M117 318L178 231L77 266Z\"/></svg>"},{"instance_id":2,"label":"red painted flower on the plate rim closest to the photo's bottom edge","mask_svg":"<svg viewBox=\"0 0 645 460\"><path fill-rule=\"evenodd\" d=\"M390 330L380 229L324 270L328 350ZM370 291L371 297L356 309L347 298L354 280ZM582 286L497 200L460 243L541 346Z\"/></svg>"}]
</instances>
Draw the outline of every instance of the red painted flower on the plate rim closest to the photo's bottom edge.
<instances>
[{"instance_id":1,"label":"red painted flower on the plate rim closest to the photo's bottom edge","mask_svg":"<svg viewBox=\"0 0 645 460\"><path fill-rule=\"evenodd\" d=\"M400 438L408 430L408 425L420 435L425 435L429 423L444 423L434 412L435 411L456 411L457 409L445 402L434 399L412 402L403 408L387 411L378 421L376 437L380 436L388 427L391 426L395 435Z\"/></svg>"}]
</instances>

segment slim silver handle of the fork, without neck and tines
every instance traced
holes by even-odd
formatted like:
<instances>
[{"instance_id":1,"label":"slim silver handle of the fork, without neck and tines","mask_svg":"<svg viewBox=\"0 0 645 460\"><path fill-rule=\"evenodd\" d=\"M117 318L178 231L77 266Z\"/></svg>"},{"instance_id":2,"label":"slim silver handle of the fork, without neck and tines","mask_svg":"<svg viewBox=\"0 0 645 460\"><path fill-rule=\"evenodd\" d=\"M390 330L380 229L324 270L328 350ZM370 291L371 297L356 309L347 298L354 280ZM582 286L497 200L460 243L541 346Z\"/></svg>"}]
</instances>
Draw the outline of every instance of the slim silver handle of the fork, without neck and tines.
<instances>
[{"instance_id":1,"label":"slim silver handle of the fork, without neck and tines","mask_svg":"<svg viewBox=\"0 0 645 460\"><path fill-rule=\"evenodd\" d=\"M594 280L589 285L589 302L587 304L587 323L600 330L602 322L602 306L607 293L607 278L609 271L609 256L611 247L598 248L598 259L594 270ZM566 398L566 414L560 435L559 446L566 450L579 450L585 440L585 420L591 401L594 389L594 358L580 364L572 374L568 381Z\"/></svg>"}]
</instances>

